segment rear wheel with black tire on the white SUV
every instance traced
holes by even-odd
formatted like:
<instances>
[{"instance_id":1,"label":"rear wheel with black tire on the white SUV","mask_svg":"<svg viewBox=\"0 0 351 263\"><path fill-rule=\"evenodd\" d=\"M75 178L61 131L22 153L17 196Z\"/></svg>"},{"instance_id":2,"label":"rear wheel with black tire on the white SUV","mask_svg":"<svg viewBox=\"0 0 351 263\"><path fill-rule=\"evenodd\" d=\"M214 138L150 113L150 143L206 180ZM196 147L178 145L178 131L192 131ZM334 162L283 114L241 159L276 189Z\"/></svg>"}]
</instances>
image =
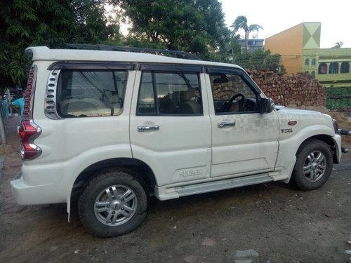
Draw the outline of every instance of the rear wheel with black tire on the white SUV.
<instances>
[{"instance_id":1,"label":"rear wheel with black tire on the white SUV","mask_svg":"<svg viewBox=\"0 0 351 263\"><path fill-rule=\"evenodd\" d=\"M140 182L127 170L106 170L94 177L78 200L84 227L102 238L136 229L147 210L147 194Z\"/></svg>"}]
</instances>

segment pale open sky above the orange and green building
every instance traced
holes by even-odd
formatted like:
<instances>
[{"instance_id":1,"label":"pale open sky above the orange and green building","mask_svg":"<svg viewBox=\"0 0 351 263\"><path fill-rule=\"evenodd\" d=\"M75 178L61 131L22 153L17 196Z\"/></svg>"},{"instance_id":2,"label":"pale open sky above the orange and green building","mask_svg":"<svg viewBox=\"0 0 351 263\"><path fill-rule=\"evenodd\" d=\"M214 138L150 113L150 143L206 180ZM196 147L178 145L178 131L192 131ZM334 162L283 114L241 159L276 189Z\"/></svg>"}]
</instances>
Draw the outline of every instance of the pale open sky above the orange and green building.
<instances>
[{"instance_id":1,"label":"pale open sky above the orange and green building","mask_svg":"<svg viewBox=\"0 0 351 263\"><path fill-rule=\"evenodd\" d=\"M302 22L321 22L320 48L331 48L343 42L351 48L350 0L218 0L222 3L225 22L229 27L239 15L247 18L248 25L258 24L263 29L253 32L258 39L267 39ZM244 36L244 32L239 30ZM250 35L251 37L251 35Z\"/></svg>"}]
</instances>

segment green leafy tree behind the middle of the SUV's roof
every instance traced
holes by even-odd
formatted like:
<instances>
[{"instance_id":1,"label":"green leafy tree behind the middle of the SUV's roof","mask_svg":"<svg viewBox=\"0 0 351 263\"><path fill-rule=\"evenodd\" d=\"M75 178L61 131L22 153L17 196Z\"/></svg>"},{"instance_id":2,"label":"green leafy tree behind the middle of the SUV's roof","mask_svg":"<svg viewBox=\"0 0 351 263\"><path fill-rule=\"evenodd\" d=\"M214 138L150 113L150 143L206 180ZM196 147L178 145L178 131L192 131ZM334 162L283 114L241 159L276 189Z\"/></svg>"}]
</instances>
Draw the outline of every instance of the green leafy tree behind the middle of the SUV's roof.
<instances>
[{"instance_id":1,"label":"green leafy tree behind the middle of the SUV's roof","mask_svg":"<svg viewBox=\"0 0 351 263\"><path fill-rule=\"evenodd\" d=\"M217 0L112 0L132 23L130 38L208 58L225 48L229 29Z\"/></svg>"}]
</instances>

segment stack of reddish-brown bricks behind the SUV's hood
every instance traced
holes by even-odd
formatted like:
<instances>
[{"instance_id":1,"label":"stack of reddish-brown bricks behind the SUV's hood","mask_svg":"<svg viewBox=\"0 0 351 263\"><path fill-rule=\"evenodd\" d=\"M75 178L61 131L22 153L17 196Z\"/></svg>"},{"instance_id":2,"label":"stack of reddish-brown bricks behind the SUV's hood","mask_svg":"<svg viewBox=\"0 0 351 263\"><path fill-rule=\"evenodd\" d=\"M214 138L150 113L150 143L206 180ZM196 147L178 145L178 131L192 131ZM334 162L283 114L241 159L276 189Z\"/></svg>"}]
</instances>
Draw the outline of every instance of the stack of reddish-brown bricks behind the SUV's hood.
<instances>
[{"instance_id":1,"label":"stack of reddish-brown bricks behind the SUV's hood","mask_svg":"<svg viewBox=\"0 0 351 263\"><path fill-rule=\"evenodd\" d=\"M275 104L295 104L298 107L326 105L326 89L308 74L286 76L259 70L247 72Z\"/></svg>"}]
</instances>

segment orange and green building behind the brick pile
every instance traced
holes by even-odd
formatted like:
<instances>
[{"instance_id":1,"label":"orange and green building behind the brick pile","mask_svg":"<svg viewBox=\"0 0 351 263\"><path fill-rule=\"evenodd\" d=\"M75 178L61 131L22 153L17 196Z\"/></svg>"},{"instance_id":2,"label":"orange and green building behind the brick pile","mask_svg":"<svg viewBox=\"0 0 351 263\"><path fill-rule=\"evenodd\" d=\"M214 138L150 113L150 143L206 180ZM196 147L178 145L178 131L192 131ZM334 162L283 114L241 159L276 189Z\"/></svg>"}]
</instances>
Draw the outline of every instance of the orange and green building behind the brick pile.
<instances>
[{"instance_id":1,"label":"orange and green building behind the brick pile","mask_svg":"<svg viewBox=\"0 0 351 263\"><path fill-rule=\"evenodd\" d=\"M323 86L351 86L351 48L319 48L320 22L303 22L265 39L287 74L310 73Z\"/></svg>"}]
</instances>

